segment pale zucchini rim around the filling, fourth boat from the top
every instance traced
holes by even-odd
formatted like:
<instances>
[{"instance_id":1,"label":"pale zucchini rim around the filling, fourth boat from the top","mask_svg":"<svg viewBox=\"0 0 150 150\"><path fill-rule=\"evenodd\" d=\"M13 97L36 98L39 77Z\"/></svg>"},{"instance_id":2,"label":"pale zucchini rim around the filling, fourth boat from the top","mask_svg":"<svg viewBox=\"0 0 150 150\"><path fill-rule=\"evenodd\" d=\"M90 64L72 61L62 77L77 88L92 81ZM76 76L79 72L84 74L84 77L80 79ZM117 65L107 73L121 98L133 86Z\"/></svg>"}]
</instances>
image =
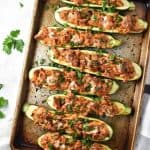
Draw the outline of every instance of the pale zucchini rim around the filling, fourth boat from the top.
<instances>
[{"instance_id":1,"label":"pale zucchini rim around the filling, fourth boat from the top","mask_svg":"<svg viewBox=\"0 0 150 150\"><path fill-rule=\"evenodd\" d=\"M61 51L62 49L57 49L57 50ZM80 52L83 53L83 54L97 55L97 52L95 52L95 51L80 50ZM108 54L108 53L101 53L101 54L102 54L102 55L105 55L105 56L110 55L110 54ZM49 56L50 60L52 60L53 62L55 62L55 63L57 63L57 64L61 64L61 65L70 67L70 68L72 68L72 69L80 70L81 72L86 72L86 73L93 74L93 75L96 75L96 76L102 76L102 77L110 78L110 77L108 77L108 76L103 75L102 73L100 74L99 72L96 72L96 71L94 72L94 71L91 71L91 70L86 69L86 68L85 68L85 69L81 69L80 67L75 67L75 66L73 66L71 63L68 63L68 62L66 62L66 61L64 61L64 60L63 60L63 61L62 61L62 60L58 60L58 59L55 57L53 50L50 50L50 51L48 52L48 56ZM119 57L118 57L118 58L119 58ZM124 58L121 58L121 59L124 59ZM137 80L137 79L139 79L139 78L141 77L141 75L142 75L142 69L141 69L141 67L140 67L138 64L134 63L134 62L132 62L132 65L133 65L134 70L135 70L135 76L134 76L133 78L128 79L127 81ZM116 79L116 80L123 80L123 81L124 81L124 78L122 78L122 77L117 77L117 76L114 77L113 79Z\"/></svg>"}]
</instances>

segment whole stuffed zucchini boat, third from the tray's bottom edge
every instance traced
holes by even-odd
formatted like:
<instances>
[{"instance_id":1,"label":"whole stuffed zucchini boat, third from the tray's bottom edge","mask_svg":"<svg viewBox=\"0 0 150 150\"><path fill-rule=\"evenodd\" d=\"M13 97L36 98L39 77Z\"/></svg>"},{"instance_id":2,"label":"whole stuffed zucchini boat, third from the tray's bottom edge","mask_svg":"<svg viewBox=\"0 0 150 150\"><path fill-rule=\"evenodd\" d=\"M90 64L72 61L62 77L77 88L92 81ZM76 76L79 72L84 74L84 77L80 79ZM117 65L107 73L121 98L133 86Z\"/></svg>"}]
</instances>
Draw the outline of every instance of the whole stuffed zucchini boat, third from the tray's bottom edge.
<instances>
[{"instance_id":1,"label":"whole stuffed zucchini boat, third from the tray's bottom edge","mask_svg":"<svg viewBox=\"0 0 150 150\"><path fill-rule=\"evenodd\" d=\"M117 115L129 115L131 108L118 101L111 101L110 98L89 98L69 93L51 95L47 103L57 111L63 113L76 113L83 116L96 114L99 116L114 117Z\"/></svg>"}]
</instances>

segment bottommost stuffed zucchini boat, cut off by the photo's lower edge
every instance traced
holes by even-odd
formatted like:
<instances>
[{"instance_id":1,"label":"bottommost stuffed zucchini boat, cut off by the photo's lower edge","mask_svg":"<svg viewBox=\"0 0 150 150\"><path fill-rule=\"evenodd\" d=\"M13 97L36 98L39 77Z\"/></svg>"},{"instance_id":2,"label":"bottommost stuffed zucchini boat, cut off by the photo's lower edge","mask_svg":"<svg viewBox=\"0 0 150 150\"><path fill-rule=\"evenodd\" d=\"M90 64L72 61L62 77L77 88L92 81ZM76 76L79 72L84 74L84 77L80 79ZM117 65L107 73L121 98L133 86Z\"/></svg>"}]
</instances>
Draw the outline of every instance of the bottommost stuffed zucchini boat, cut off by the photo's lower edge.
<instances>
[{"instance_id":1,"label":"bottommost stuffed zucchini boat, cut off by the photo's lower edge","mask_svg":"<svg viewBox=\"0 0 150 150\"><path fill-rule=\"evenodd\" d=\"M85 143L87 142L87 143ZM84 140L75 140L72 136L58 132L47 132L38 138L38 145L44 150L111 150L110 147Z\"/></svg>"}]
</instances>

